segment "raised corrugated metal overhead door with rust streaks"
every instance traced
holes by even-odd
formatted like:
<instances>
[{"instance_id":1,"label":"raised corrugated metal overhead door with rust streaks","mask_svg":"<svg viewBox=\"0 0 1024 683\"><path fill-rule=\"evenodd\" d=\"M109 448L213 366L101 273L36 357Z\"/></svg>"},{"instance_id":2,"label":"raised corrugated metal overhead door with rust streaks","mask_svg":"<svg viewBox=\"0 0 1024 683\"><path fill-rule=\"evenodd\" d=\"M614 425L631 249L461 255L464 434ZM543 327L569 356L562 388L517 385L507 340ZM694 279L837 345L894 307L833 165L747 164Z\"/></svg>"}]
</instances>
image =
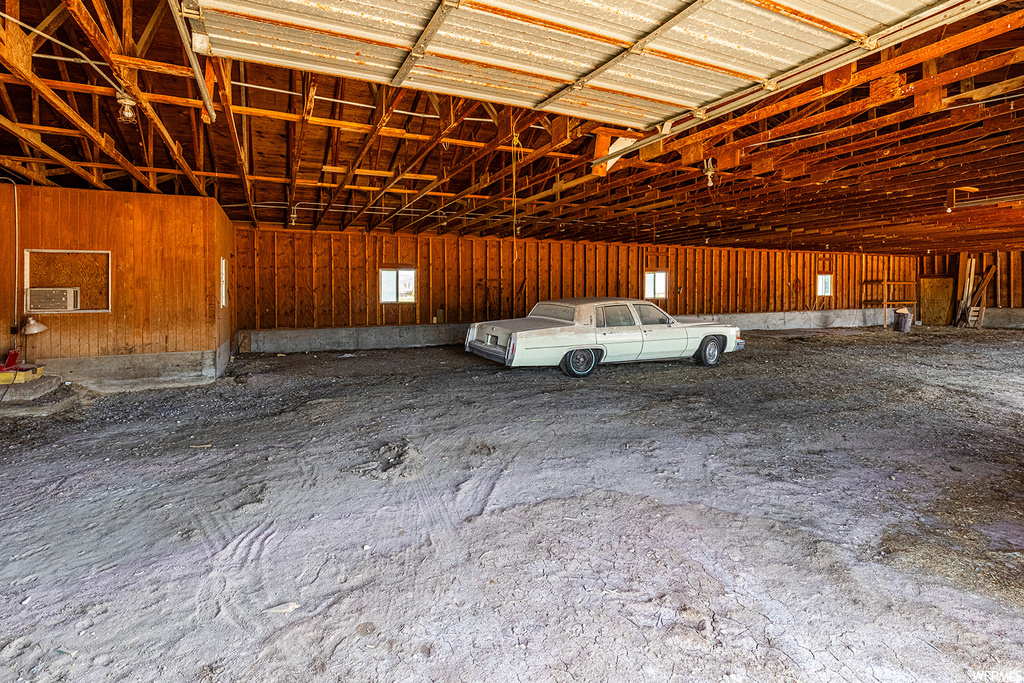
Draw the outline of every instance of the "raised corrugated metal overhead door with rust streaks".
<instances>
[{"instance_id":1,"label":"raised corrugated metal overhead door with rust streaks","mask_svg":"<svg viewBox=\"0 0 1024 683\"><path fill-rule=\"evenodd\" d=\"M535 106L587 77L693 0L462 0L404 86ZM710 0L552 102L552 112L644 125L777 77L936 4L922 0ZM389 82L438 0L200 0L215 54ZM814 26L817 24L818 26ZM843 34L843 35L837 35Z\"/></svg>"}]
</instances>

